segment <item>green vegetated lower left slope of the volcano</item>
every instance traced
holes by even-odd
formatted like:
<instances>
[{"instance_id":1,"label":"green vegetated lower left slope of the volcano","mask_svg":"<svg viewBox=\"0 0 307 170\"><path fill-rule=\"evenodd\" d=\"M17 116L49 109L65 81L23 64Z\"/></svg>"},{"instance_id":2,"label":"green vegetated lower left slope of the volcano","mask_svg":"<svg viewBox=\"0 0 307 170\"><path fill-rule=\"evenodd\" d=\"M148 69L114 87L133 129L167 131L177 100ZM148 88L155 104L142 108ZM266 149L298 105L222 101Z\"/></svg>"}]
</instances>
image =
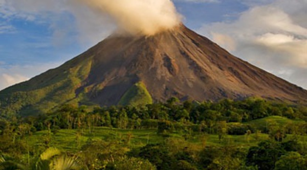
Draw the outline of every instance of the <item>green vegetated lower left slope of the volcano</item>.
<instances>
[{"instance_id":1,"label":"green vegetated lower left slope of the volcano","mask_svg":"<svg viewBox=\"0 0 307 170\"><path fill-rule=\"evenodd\" d=\"M78 105L86 100L85 95L76 95L75 90L89 75L92 57L86 58L78 65L75 58L58 69L49 70L27 82L16 84L0 92L1 115L14 115L20 110L23 116L47 113L59 103ZM56 75L51 77L52 75ZM81 92L82 94L82 92Z\"/></svg>"}]
</instances>

